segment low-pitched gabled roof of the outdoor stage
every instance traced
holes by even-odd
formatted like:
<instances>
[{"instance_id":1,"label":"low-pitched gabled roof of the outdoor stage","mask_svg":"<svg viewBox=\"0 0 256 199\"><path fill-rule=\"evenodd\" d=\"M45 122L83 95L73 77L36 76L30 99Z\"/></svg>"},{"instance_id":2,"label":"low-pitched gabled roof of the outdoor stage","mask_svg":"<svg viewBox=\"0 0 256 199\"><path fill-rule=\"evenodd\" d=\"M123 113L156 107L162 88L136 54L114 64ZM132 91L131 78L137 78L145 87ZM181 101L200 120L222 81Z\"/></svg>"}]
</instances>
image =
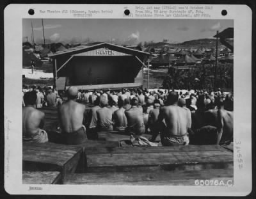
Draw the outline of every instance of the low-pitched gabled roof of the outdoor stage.
<instances>
[{"instance_id":1,"label":"low-pitched gabled roof of the outdoor stage","mask_svg":"<svg viewBox=\"0 0 256 199\"><path fill-rule=\"evenodd\" d=\"M130 49L127 47L123 47L115 44L109 44L109 43L100 43L95 45L78 45L76 47L65 49L65 51L52 52L48 54L48 56L50 58L56 58L57 56L62 56L62 55L74 55L74 54L79 54L81 52L93 51L95 49L99 49L102 47L107 47L109 50L123 52L125 54L132 54L135 56L150 56L148 52L138 51L136 49Z\"/></svg>"}]
</instances>

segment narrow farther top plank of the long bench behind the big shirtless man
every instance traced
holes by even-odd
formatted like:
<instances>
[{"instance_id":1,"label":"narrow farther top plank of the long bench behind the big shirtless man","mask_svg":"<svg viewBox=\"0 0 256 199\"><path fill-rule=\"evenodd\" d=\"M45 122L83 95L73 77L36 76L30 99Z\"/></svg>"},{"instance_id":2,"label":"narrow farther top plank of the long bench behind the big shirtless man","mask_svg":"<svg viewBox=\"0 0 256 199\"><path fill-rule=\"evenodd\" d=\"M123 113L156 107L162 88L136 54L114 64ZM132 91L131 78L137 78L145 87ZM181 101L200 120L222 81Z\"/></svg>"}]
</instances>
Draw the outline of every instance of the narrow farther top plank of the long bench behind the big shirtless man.
<instances>
[{"instance_id":1,"label":"narrow farther top plank of the long bench behind the big shirtless man","mask_svg":"<svg viewBox=\"0 0 256 199\"><path fill-rule=\"evenodd\" d=\"M170 152L205 152L226 151L219 145L187 145L173 147L108 147L86 150L86 154L145 154L145 153L170 153Z\"/></svg>"}]
</instances>

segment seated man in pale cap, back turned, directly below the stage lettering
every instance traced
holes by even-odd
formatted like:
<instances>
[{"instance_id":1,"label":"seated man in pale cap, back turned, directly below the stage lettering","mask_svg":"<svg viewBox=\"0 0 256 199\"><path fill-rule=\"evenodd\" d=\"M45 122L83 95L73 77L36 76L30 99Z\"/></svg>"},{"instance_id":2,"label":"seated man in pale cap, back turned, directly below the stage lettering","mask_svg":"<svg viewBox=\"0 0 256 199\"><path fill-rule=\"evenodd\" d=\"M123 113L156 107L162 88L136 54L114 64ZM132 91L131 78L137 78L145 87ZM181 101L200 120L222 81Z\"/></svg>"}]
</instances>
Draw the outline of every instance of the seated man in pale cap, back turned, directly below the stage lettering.
<instances>
[{"instance_id":1,"label":"seated man in pale cap, back turned, directly below the stage lettering","mask_svg":"<svg viewBox=\"0 0 256 199\"><path fill-rule=\"evenodd\" d=\"M108 97L100 95L100 109L97 113L97 127L99 131L113 131L112 111L108 108Z\"/></svg>"}]
</instances>

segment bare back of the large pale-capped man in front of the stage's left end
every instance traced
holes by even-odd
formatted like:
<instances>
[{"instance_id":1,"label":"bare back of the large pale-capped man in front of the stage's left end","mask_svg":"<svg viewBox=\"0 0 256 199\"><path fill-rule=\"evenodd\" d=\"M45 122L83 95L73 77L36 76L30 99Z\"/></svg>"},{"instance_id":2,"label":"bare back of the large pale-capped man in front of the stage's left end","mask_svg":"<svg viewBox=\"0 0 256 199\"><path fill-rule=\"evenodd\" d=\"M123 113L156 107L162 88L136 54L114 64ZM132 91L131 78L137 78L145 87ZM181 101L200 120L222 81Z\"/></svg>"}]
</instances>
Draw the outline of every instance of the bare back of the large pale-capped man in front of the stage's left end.
<instances>
[{"instance_id":1,"label":"bare back of the large pale-capped man in front of the stage's left end","mask_svg":"<svg viewBox=\"0 0 256 199\"><path fill-rule=\"evenodd\" d=\"M68 100L59 108L61 129L64 132L76 132L83 126L85 106L74 100Z\"/></svg>"}]
</instances>

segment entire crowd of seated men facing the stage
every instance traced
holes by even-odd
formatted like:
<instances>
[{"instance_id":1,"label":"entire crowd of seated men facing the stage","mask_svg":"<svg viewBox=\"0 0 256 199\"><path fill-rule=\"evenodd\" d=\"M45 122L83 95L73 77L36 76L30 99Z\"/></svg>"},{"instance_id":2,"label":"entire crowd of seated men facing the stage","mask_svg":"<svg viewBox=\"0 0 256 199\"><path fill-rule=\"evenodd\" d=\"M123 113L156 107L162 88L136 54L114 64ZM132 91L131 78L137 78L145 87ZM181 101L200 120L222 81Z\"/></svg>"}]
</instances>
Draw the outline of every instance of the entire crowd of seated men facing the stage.
<instances>
[{"instance_id":1,"label":"entire crowd of seated men facing the stage","mask_svg":"<svg viewBox=\"0 0 256 199\"><path fill-rule=\"evenodd\" d=\"M97 139L100 131L160 136L163 146L223 145L233 140L233 94L216 91L122 89L78 90L23 86L24 141L44 143L60 139L66 144ZM42 107L56 107L60 131L44 130Z\"/></svg>"}]
</instances>

